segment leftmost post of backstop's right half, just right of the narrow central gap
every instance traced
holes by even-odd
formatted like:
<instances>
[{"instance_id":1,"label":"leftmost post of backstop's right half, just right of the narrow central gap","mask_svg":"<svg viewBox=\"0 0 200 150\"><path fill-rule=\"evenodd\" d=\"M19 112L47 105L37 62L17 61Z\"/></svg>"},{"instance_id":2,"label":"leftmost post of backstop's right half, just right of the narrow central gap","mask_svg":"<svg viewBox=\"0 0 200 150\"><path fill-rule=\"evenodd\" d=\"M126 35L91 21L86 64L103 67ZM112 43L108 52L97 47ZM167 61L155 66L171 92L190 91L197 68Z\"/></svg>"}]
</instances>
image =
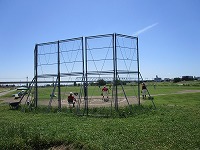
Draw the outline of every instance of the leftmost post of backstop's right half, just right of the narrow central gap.
<instances>
[{"instance_id":1,"label":"leftmost post of backstop's right half, just right of the narrow central gap","mask_svg":"<svg viewBox=\"0 0 200 150\"><path fill-rule=\"evenodd\" d=\"M85 101L85 110L88 115L88 68L87 68L87 37L85 37L85 80L84 80L84 101ZM84 112L85 112L84 110Z\"/></svg>"}]
</instances>

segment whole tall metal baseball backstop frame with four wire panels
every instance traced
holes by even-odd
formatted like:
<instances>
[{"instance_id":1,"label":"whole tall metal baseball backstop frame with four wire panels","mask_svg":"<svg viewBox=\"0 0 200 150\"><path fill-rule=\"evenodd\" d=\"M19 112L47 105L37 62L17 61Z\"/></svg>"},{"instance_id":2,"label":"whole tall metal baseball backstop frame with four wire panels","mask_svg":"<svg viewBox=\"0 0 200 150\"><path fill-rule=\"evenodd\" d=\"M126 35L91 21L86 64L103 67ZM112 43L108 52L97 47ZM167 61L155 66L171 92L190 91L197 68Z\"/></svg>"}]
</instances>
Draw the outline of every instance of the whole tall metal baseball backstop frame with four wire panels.
<instances>
[{"instance_id":1,"label":"whole tall metal baseball backstop frame with four wire panels","mask_svg":"<svg viewBox=\"0 0 200 150\"><path fill-rule=\"evenodd\" d=\"M108 46L108 47L99 47L99 48L90 48L90 41L91 40L96 40L96 39L104 39L104 38L109 38L112 42L111 45L112 46ZM118 38L125 38L125 39L129 39L129 40L133 40L136 42L136 44L134 45L133 48L127 47L127 46L120 46L118 43ZM61 49L61 44L65 43L65 42L70 42L70 41L80 41L81 46L80 46L80 51L82 53L82 58L81 60L73 60L67 63L80 63L82 64L82 69L78 72L68 72L68 73L64 73L61 71L61 53L62 53L62 49ZM39 54L39 47L41 46L45 46L45 45L57 45L56 46L56 55L57 55L57 62L54 63L54 65L57 67L57 72L54 74L38 74L38 56ZM135 58L134 60L130 60L133 61L135 63L136 68L128 68L130 70L119 70L119 62L120 61L127 61L125 58L119 58L118 56L118 52L120 48L124 48L124 49L130 49L130 50L134 50L135 53ZM104 58L102 60L95 60L95 59L91 59L89 58L89 53L90 51L94 51L95 49L112 49L112 58ZM122 51L122 50L120 50ZM45 54L44 54L45 55ZM106 61L112 62L112 69L109 70L92 70L89 67L89 64L91 64L92 61L103 61L103 63L105 63ZM66 62L65 62L66 63ZM45 64L48 65L48 64ZM103 68L103 67L102 67ZM48 43L41 43L41 44L36 44L35 45L35 50L34 50L34 87L35 87L35 93L34 93L34 100L35 100L35 107L38 106L38 83L52 83L52 81L39 81L40 78L49 78L49 77L57 77L57 87L58 87L58 108L61 109L61 83L67 83L67 82L73 82L73 81L64 81L61 80L62 77L68 77L68 76L77 76L76 78L76 82L80 82L83 85L83 90L84 90L84 101L85 101L85 110L88 114L88 85L91 82L90 78L91 76L94 76L94 78L98 78L97 76L99 75L103 75L105 78L110 78L113 80L113 89L114 89L114 106L115 106L115 110L118 110L118 85L117 80L120 80L120 76L124 75L124 74L137 74L137 87L138 87L138 104L140 105L140 71L139 71L139 49L138 49L138 37L133 37L133 36L128 36L128 35L122 35L122 34L105 34L105 35L96 35L96 36L88 36L88 37L80 37L80 38L73 38L73 39L67 39L67 40L60 40L60 41L56 41L56 42L48 42ZM111 76L111 77L110 77ZM78 80L77 80L78 79ZM131 77L128 78L129 80L132 80ZM123 89L124 90L124 89Z\"/></svg>"}]
</instances>

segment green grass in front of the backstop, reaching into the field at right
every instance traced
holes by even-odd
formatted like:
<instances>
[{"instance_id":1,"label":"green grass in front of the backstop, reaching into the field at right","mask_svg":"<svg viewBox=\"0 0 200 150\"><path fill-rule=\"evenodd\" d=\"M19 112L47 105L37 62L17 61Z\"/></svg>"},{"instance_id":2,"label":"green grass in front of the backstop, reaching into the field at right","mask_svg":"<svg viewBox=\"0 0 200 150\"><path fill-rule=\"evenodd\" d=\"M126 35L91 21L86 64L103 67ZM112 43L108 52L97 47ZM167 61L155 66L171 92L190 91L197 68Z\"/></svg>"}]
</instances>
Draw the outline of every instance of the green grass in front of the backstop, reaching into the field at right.
<instances>
[{"instance_id":1,"label":"green grass in front of the backstop, reaching into the field at right","mask_svg":"<svg viewBox=\"0 0 200 150\"><path fill-rule=\"evenodd\" d=\"M150 101L113 117L78 117L72 113L10 110L0 104L1 149L200 149L200 90L192 83L164 84ZM126 91L131 86L126 87ZM47 92L48 93L48 92ZM98 93L98 92L97 92ZM163 94L163 95L159 95ZM164 95L165 94L165 95Z\"/></svg>"}]
</instances>

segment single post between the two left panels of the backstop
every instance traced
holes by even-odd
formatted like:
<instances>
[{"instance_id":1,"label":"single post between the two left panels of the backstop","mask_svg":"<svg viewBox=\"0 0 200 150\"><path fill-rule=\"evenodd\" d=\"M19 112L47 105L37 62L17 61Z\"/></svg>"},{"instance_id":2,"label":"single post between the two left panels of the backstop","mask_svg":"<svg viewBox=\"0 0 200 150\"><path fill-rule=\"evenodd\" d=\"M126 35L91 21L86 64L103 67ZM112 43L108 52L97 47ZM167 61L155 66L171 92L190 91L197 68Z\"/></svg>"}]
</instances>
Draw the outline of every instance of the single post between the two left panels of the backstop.
<instances>
[{"instance_id":1,"label":"single post between the two left panels of the backstop","mask_svg":"<svg viewBox=\"0 0 200 150\"><path fill-rule=\"evenodd\" d=\"M61 90L60 90L60 42L58 41L58 109L61 109Z\"/></svg>"}]
</instances>

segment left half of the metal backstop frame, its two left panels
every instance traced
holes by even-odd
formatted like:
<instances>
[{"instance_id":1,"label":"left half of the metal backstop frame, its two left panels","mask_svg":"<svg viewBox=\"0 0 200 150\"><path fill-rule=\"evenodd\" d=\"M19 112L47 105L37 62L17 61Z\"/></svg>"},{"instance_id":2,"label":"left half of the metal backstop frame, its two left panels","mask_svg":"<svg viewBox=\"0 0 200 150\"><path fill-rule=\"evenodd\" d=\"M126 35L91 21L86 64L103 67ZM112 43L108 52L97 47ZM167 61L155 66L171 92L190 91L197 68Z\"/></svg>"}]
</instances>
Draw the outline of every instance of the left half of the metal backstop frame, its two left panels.
<instances>
[{"instance_id":1,"label":"left half of the metal backstop frame, its two left panels","mask_svg":"<svg viewBox=\"0 0 200 150\"><path fill-rule=\"evenodd\" d=\"M80 49L78 49L78 51L80 51L82 53L82 60L81 61L76 61L74 60L73 63L81 63L82 64L82 70L80 72L70 72L68 71L66 73L66 71L61 72L61 63L72 63L72 61L66 61L66 62L61 62L61 53L62 53L62 49L61 49L61 44L62 43L68 43L68 42L73 42L73 41L80 41L81 43L81 47ZM57 51L56 51L56 55L57 55L57 62L53 63L53 64L42 64L42 65L56 65L57 67L57 73L53 73L53 74L38 74L38 56L39 56L39 49L38 47L40 46L45 46L45 45L57 45ZM69 51L77 51L77 50L69 50ZM53 53L49 53L49 54L53 54ZM45 55L41 54L41 55ZM83 52L83 37L79 37L79 38L73 38L73 39L66 39L66 40L59 40L59 41L55 41L55 42L48 42L48 43L41 43L41 44L36 44L35 46L35 50L34 50L34 58L35 58L35 63L34 63L34 77L35 77L35 107L37 107L38 105L38 83L52 83L52 81L38 81L39 78L51 78L51 77L56 77L57 80L56 82L53 81L53 84L55 84L55 87L58 87L58 108L61 109L61 83L68 83L68 82L73 82L73 81L62 81L61 78L62 77L67 77L67 76L81 76L83 78L84 76L84 52ZM41 65L41 66L42 66ZM79 81L82 82L82 81ZM55 91L55 88L54 88ZM53 96L53 95L51 95ZM51 97L52 99L52 97ZM50 100L51 101L51 100Z\"/></svg>"}]
</instances>

